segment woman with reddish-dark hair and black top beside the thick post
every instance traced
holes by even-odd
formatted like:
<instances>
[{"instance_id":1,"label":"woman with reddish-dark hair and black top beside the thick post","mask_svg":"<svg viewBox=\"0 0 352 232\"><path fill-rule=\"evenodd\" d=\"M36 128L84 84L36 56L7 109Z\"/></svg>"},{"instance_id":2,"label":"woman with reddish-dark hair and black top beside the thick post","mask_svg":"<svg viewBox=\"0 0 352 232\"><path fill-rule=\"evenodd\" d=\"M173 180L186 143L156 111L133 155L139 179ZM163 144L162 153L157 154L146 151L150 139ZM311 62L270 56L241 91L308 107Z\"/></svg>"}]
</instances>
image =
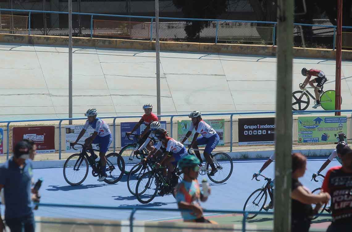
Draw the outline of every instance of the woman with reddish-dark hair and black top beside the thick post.
<instances>
[{"instance_id":1,"label":"woman with reddish-dark hair and black top beside the thick post","mask_svg":"<svg viewBox=\"0 0 352 232\"><path fill-rule=\"evenodd\" d=\"M304 155L292 154L291 231L308 232L312 215L316 214L322 203L330 200L328 193L314 195L298 181L306 172L306 165ZM314 210L311 204L316 204Z\"/></svg>"}]
</instances>

